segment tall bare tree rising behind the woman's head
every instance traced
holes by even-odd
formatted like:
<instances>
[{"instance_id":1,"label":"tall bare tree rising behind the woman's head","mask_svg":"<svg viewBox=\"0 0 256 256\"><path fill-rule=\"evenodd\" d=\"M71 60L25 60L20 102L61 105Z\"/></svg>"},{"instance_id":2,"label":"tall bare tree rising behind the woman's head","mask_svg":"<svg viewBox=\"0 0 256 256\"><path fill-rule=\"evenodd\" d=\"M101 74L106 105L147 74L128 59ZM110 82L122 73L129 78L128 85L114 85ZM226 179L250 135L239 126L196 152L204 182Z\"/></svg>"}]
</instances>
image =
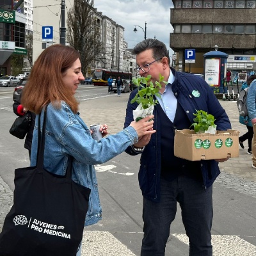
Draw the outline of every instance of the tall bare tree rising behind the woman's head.
<instances>
[{"instance_id":1,"label":"tall bare tree rising behind the woman's head","mask_svg":"<svg viewBox=\"0 0 256 256\"><path fill-rule=\"evenodd\" d=\"M75 0L67 13L67 40L81 54L82 72L101 54L100 24L95 20L93 0Z\"/></svg>"}]
</instances>

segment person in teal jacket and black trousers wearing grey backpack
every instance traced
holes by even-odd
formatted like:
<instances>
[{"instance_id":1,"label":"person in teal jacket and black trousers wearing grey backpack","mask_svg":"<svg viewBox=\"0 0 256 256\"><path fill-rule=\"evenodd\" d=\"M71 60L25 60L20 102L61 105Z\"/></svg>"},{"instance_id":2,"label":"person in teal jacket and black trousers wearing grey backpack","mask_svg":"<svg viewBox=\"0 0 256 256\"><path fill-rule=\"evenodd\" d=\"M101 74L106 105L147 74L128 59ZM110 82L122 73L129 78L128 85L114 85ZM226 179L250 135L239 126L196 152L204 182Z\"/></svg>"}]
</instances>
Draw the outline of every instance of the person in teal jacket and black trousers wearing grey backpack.
<instances>
[{"instance_id":1,"label":"person in teal jacket and black trousers wearing grey backpack","mask_svg":"<svg viewBox=\"0 0 256 256\"><path fill-rule=\"evenodd\" d=\"M252 81L256 79L256 76L249 76L247 81L243 83L241 86L241 91L245 88L248 88ZM244 133L242 136L239 136L239 145L241 148L244 148L243 142L248 140L248 150L247 154L252 155L252 138L253 138L253 127L252 127L252 121L250 120L249 116L239 116L239 122L240 124L246 125L247 132Z\"/></svg>"}]
</instances>

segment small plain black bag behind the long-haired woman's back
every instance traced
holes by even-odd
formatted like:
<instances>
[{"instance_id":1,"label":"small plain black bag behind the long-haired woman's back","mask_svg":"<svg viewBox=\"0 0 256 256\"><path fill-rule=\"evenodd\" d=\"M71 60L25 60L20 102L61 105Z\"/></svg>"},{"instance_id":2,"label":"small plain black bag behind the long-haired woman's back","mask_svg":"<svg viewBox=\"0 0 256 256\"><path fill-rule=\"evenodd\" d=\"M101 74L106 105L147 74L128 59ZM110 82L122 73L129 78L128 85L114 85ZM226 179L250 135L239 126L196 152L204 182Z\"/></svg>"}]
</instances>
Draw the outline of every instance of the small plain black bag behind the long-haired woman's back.
<instances>
[{"instance_id":1,"label":"small plain black bag behind the long-haired woman's back","mask_svg":"<svg viewBox=\"0 0 256 256\"><path fill-rule=\"evenodd\" d=\"M21 140L24 139L28 133L30 122L31 114L29 112L26 112L23 116L18 116L9 130L10 134Z\"/></svg>"}]
</instances>

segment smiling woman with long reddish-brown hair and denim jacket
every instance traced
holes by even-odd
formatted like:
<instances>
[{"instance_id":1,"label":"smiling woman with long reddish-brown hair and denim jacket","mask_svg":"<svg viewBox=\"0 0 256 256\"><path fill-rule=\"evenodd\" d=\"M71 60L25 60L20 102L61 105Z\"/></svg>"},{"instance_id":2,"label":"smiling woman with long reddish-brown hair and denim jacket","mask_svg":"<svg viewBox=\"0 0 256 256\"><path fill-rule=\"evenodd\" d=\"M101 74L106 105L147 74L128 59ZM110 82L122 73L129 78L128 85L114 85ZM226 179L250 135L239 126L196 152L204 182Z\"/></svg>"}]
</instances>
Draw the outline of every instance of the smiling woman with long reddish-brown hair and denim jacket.
<instances>
[{"instance_id":1,"label":"smiling woman with long reddish-brown hair and denim jacket","mask_svg":"<svg viewBox=\"0 0 256 256\"><path fill-rule=\"evenodd\" d=\"M100 164L124 152L125 148L137 143L141 136L152 134L153 121L148 116L141 122L131 124L117 134L93 140L90 129L78 112L74 94L84 80L81 72L80 54L72 47L54 44L47 47L35 61L29 81L22 92L22 106L36 114L31 166L36 165L38 147L38 115L44 116L45 126L44 168L56 175L63 175L68 156L72 162L72 179L91 189L89 208L85 225L92 225L102 219L97 178L93 164ZM92 111L92 109L88 109ZM108 134L108 125L101 125L103 136ZM72 207L72 205L70 205ZM65 212L63 212L65 214ZM45 245L46 246L46 245ZM81 255L81 248L77 255Z\"/></svg>"}]
</instances>

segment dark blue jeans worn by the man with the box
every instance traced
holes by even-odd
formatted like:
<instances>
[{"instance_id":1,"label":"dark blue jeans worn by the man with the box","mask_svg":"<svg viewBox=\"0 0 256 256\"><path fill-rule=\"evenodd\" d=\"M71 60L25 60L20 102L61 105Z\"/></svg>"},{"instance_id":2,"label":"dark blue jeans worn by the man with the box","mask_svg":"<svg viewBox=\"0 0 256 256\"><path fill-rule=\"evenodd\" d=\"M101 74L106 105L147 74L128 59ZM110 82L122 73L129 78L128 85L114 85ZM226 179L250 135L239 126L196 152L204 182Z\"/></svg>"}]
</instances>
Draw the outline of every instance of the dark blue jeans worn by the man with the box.
<instances>
[{"instance_id":1,"label":"dark blue jeans worn by the man with the box","mask_svg":"<svg viewBox=\"0 0 256 256\"><path fill-rule=\"evenodd\" d=\"M172 182L161 179L161 202L143 198L141 256L164 256L177 202L189 237L189 256L212 256L212 186L205 190L202 182L186 176Z\"/></svg>"}]
</instances>

